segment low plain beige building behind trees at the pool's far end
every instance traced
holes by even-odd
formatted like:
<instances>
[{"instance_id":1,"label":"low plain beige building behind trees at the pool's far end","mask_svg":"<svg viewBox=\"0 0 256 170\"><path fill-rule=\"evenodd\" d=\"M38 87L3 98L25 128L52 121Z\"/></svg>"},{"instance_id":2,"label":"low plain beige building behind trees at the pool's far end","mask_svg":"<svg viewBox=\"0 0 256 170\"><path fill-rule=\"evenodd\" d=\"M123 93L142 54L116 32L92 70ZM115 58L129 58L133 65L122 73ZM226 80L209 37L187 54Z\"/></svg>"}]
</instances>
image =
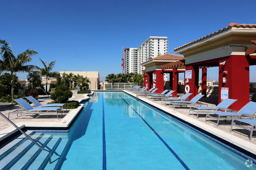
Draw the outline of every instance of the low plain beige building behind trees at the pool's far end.
<instances>
[{"instance_id":1,"label":"low plain beige building behind trees at the pool's far end","mask_svg":"<svg viewBox=\"0 0 256 170\"><path fill-rule=\"evenodd\" d=\"M98 71L59 71L60 74L63 73L69 74L73 73L74 75L82 75L83 77L87 77L91 84L91 90L99 90L99 72Z\"/></svg>"}]
</instances>

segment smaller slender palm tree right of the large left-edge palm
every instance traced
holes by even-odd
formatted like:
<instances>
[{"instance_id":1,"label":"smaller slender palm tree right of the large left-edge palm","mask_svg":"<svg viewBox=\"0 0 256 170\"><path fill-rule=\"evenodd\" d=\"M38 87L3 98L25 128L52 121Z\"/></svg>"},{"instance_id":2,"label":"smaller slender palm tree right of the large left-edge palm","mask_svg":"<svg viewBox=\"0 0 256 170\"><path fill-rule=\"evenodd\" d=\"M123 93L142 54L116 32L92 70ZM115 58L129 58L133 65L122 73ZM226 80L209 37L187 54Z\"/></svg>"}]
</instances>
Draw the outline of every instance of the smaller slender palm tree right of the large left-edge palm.
<instances>
[{"instance_id":1,"label":"smaller slender palm tree right of the large left-edge palm","mask_svg":"<svg viewBox=\"0 0 256 170\"><path fill-rule=\"evenodd\" d=\"M42 62L43 66L45 67L45 68L40 68L40 74L41 74L42 76L45 76L45 77L46 77L46 83L45 83L45 84L46 84L46 88L45 88L45 92L47 93L47 84L48 84L48 81L47 81L47 80L48 80L48 77L56 77L56 75L58 74L57 71L50 72L50 71L53 69L56 60L50 62L50 64L49 64L48 66L46 66L46 62L43 62L43 60L41 60L41 58L39 58L39 60Z\"/></svg>"}]
</instances>

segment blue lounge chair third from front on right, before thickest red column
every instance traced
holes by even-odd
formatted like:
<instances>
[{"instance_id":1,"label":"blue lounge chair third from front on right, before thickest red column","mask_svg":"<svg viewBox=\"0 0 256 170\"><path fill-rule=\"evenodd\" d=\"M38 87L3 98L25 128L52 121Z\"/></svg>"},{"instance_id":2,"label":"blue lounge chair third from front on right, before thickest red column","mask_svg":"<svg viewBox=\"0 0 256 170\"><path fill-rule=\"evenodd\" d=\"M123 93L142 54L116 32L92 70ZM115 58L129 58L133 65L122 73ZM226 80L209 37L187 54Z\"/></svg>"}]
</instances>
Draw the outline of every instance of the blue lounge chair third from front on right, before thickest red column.
<instances>
[{"instance_id":1,"label":"blue lounge chair third from front on right, before thickest red column","mask_svg":"<svg viewBox=\"0 0 256 170\"><path fill-rule=\"evenodd\" d=\"M189 109L189 115L190 111L196 112L196 118L198 118L199 113L205 113L207 112L206 110L218 110L219 108L228 108L231 104L233 104L235 99L225 99L224 101L220 102L215 108L214 107L200 107L200 106L191 106Z\"/></svg>"}]
</instances>

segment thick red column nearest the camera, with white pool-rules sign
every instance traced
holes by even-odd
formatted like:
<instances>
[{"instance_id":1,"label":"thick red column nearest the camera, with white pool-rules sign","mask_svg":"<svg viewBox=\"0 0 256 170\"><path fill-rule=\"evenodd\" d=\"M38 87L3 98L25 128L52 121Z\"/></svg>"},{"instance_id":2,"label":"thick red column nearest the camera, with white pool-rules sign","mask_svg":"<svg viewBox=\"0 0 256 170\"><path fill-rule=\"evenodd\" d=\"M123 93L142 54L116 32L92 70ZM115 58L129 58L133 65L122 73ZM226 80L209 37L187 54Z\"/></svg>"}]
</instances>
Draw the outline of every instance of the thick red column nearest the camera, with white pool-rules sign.
<instances>
[{"instance_id":1,"label":"thick red column nearest the camera, with white pool-rules sign","mask_svg":"<svg viewBox=\"0 0 256 170\"><path fill-rule=\"evenodd\" d=\"M226 61L224 65L219 65L219 102L221 102L221 88L228 88L228 98L238 100L230 108L240 110L249 102L249 59L243 55L232 55L219 62L224 61ZM226 83L223 83L223 77L226 78Z\"/></svg>"}]
</instances>

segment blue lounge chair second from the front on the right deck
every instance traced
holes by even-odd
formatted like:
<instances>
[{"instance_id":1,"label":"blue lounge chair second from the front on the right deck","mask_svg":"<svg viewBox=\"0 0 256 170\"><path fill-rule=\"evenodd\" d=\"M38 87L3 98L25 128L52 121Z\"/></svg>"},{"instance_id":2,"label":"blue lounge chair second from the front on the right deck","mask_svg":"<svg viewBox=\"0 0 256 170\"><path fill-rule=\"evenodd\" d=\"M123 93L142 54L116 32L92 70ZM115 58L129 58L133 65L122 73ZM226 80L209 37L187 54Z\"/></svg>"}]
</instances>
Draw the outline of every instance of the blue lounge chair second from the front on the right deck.
<instances>
[{"instance_id":1,"label":"blue lounge chair second from the front on the right deck","mask_svg":"<svg viewBox=\"0 0 256 170\"><path fill-rule=\"evenodd\" d=\"M217 117L213 117L209 115L209 113L217 115ZM232 120L232 119L237 119L241 118L242 116L254 116L254 113L256 113L256 102L250 101L249 103L245 104L243 108L239 110L239 112L207 112L206 114L206 121L207 117L211 117L213 119L217 120L217 126L219 126L219 121L220 119L222 120ZM235 118L234 118L235 117Z\"/></svg>"}]
</instances>

